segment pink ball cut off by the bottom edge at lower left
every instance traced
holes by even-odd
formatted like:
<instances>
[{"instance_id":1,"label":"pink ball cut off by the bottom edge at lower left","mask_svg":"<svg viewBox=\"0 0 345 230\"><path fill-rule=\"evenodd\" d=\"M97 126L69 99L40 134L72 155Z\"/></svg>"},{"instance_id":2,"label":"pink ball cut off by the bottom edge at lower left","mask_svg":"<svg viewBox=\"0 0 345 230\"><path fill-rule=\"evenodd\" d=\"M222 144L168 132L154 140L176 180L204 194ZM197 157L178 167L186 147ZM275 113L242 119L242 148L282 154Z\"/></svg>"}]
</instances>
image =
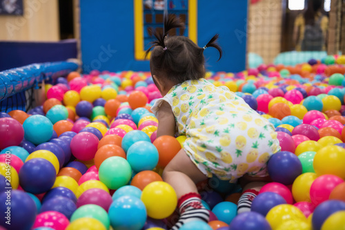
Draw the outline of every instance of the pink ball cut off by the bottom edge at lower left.
<instances>
[{"instance_id":1,"label":"pink ball cut off by the bottom edge at lower left","mask_svg":"<svg viewBox=\"0 0 345 230\"><path fill-rule=\"evenodd\" d=\"M70 224L70 221L62 213L57 211L45 211L36 216L32 229L50 227L55 230L65 230L68 224Z\"/></svg>"}]
</instances>

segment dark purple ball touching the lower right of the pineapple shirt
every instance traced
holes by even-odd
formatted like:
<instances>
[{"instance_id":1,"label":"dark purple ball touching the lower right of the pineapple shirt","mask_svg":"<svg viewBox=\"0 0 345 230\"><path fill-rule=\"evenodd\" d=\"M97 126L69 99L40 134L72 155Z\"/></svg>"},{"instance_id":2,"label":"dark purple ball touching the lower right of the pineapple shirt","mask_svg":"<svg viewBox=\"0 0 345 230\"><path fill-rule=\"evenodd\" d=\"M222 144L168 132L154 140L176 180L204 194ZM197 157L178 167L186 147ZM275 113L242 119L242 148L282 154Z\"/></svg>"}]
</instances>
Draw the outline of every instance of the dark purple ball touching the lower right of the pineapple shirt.
<instances>
[{"instance_id":1,"label":"dark purple ball touching the lower right of the pineapple shirt","mask_svg":"<svg viewBox=\"0 0 345 230\"><path fill-rule=\"evenodd\" d=\"M280 151L270 157L267 169L274 182L289 185L302 174L302 163L294 153Z\"/></svg>"}]
</instances>

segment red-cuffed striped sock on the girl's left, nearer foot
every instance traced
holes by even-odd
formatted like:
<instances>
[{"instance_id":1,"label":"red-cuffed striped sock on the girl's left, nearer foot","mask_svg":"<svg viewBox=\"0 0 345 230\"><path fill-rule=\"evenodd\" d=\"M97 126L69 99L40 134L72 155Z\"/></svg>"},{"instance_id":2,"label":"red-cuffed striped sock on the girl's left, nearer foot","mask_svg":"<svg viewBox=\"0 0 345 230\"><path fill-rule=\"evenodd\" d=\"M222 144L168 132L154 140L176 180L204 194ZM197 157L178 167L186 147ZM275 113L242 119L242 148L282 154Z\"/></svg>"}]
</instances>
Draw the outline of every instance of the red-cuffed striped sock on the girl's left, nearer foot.
<instances>
[{"instance_id":1,"label":"red-cuffed striped sock on the girl's left, nearer foot","mask_svg":"<svg viewBox=\"0 0 345 230\"><path fill-rule=\"evenodd\" d=\"M179 221L171 228L178 230L186 222L204 221L208 222L210 219L209 211L202 205L201 196L197 193L188 193L179 198L177 203L179 207Z\"/></svg>"}]
</instances>

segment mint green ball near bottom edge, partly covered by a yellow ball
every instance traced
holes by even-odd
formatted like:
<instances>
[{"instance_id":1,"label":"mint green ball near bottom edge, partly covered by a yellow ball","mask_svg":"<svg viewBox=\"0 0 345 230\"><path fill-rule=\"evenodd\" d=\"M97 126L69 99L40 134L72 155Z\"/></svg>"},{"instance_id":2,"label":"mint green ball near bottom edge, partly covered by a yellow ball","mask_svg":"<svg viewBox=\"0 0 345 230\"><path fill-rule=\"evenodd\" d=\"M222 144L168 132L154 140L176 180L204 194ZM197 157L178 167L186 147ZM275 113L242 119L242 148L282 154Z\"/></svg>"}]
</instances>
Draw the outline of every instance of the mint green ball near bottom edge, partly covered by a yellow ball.
<instances>
[{"instance_id":1,"label":"mint green ball near bottom edge, partly covered by a yellow ball","mask_svg":"<svg viewBox=\"0 0 345 230\"><path fill-rule=\"evenodd\" d=\"M79 207L79 209L73 213L72 217L70 218L70 222L73 222L79 218L94 218L99 220L99 222L101 222L106 229L109 229L110 227L108 213L106 210L96 204L86 204Z\"/></svg>"}]
</instances>

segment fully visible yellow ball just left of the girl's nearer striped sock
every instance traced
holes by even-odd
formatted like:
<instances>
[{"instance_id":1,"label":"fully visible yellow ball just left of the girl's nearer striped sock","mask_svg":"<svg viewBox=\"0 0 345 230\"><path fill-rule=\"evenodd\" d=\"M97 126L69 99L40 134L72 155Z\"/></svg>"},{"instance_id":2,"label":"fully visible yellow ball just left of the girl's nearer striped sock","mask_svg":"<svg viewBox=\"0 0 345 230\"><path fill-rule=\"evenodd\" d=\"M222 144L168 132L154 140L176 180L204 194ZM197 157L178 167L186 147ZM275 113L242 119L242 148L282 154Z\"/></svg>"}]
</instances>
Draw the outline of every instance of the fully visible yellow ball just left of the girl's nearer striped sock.
<instances>
[{"instance_id":1,"label":"fully visible yellow ball just left of the girl's nearer striped sock","mask_svg":"<svg viewBox=\"0 0 345 230\"><path fill-rule=\"evenodd\" d=\"M141 193L148 216L164 219L171 215L177 205L177 195L172 186L166 182L152 182Z\"/></svg>"}]
</instances>

